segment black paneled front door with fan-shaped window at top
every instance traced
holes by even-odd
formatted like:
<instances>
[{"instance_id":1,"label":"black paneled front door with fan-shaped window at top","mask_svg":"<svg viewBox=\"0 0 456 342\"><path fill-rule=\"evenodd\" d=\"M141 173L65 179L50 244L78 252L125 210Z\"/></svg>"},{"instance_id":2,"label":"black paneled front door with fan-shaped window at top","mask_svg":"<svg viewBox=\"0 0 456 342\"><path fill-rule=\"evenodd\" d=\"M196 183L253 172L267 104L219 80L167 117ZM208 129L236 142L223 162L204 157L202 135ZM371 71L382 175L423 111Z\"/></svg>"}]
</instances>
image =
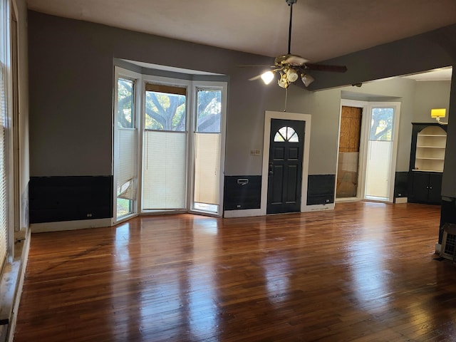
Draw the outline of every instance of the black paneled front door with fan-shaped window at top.
<instances>
[{"instance_id":1,"label":"black paneled front door with fan-shaped window at top","mask_svg":"<svg viewBox=\"0 0 456 342\"><path fill-rule=\"evenodd\" d=\"M266 212L301 211L304 121L271 120Z\"/></svg>"}]
</instances>

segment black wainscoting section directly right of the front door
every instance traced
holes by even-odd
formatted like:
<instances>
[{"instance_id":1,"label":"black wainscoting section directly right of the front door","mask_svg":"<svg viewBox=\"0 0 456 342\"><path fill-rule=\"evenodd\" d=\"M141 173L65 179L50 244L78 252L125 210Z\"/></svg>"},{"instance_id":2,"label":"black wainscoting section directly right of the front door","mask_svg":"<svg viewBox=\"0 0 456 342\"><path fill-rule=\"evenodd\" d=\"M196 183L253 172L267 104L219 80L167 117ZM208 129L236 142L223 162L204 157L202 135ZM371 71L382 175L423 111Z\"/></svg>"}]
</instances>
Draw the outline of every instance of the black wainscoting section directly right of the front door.
<instances>
[{"instance_id":1,"label":"black wainscoting section directly right of the front door","mask_svg":"<svg viewBox=\"0 0 456 342\"><path fill-rule=\"evenodd\" d=\"M334 203L336 175L309 175L307 205Z\"/></svg>"}]
</instances>

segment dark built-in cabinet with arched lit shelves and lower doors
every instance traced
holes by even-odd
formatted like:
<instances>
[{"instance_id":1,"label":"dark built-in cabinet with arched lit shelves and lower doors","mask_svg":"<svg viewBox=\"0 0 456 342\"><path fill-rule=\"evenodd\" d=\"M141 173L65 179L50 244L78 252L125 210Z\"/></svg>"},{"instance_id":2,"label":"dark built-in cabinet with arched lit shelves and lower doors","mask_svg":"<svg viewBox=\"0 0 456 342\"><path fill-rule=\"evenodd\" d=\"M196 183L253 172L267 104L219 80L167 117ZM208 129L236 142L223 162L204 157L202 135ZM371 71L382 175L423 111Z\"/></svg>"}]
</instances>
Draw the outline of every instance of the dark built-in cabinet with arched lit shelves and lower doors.
<instances>
[{"instance_id":1,"label":"dark built-in cabinet with arched lit shelves and lower doors","mask_svg":"<svg viewBox=\"0 0 456 342\"><path fill-rule=\"evenodd\" d=\"M413 123L408 202L440 204L447 126Z\"/></svg>"}]
</instances>

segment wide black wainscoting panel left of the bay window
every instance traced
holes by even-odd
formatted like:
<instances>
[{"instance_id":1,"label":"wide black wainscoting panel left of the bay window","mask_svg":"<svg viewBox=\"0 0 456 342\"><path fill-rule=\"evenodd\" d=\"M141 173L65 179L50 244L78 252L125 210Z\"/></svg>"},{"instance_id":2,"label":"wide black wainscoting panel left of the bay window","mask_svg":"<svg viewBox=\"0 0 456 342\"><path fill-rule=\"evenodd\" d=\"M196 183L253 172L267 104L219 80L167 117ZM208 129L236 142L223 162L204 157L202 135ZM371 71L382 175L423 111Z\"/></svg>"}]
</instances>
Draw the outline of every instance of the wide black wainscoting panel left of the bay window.
<instances>
[{"instance_id":1,"label":"wide black wainscoting panel left of the bay window","mask_svg":"<svg viewBox=\"0 0 456 342\"><path fill-rule=\"evenodd\" d=\"M113 176L31 177L30 223L113 217Z\"/></svg>"}]
</instances>

